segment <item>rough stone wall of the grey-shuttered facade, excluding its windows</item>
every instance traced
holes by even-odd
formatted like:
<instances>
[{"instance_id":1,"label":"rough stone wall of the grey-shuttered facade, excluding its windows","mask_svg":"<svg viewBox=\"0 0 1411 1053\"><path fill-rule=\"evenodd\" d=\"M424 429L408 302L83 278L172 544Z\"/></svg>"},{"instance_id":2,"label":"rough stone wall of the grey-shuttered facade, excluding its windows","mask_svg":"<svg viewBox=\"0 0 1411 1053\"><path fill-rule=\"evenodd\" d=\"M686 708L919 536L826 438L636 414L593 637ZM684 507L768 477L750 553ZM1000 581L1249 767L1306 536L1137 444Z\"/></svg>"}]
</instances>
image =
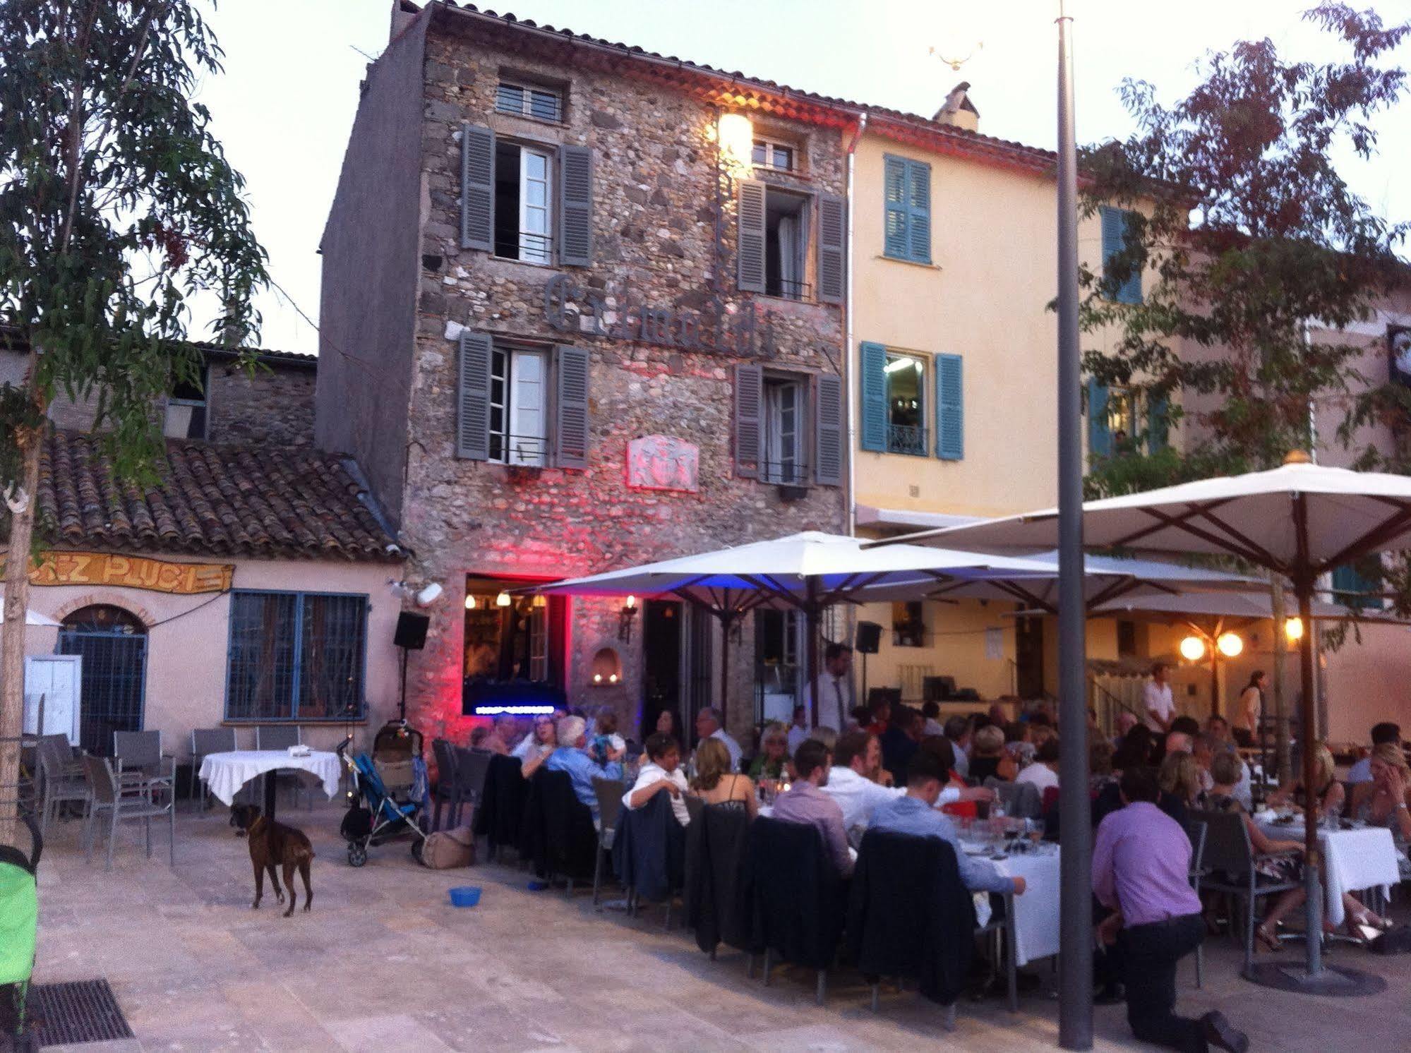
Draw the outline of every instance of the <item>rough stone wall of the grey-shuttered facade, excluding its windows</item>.
<instances>
[{"instance_id":1,"label":"rough stone wall of the grey-shuttered facade, excluding its windows","mask_svg":"<svg viewBox=\"0 0 1411 1053\"><path fill-rule=\"evenodd\" d=\"M629 66L631 64L624 64ZM499 71L567 80L566 121L494 113ZM422 128L422 279L412 371L409 453L402 539L415 552L409 577L440 582L426 649L413 655L409 711L428 728L457 733L461 689L461 598L467 572L553 579L636 562L775 538L801 529L845 528L841 487L813 487L786 500L775 486L739 479L732 463L737 359L638 342L580 336L591 354L587 470L547 469L522 477L504 466L456 457L457 342L461 327L564 343L545 318L546 282L560 272L602 296L610 315L634 299L665 309L700 309L720 270L727 309L768 309L775 357L765 363L837 374L841 312L741 294L735 285L734 206L724 205L715 240L715 110L674 89L525 51L497 49L488 37L453 37L433 24L426 42ZM501 137L594 151L594 263L540 267L460 248L460 128L488 124ZM809 193L844 193L844 144L837 130L756 120L756 133L787 137L806 157L803 179L777 179ZM737 169L737 174L749 174ZM816 223L816 219L814 219ZM810 253L810 274L816 267ZM432 265L433 264L433 265ZM608 319L611 320L611 318ZM631 439L670 435L700 447L697 493L629 490ZM621 646L625 683L615 699L588 689L587 663L604 638L617 639L621 600L576 601L570 625L569 696L611 702L624 731L636 734L642 694L641 635ZM715 632L715 646L720 634ZM752 723L752 634L731 685L731 726ZM718 655L718 651L715 651ZM718 662L718 658L715 659ZM718 692L718 672L715 673Z\"/></svg>"}]
</instances>

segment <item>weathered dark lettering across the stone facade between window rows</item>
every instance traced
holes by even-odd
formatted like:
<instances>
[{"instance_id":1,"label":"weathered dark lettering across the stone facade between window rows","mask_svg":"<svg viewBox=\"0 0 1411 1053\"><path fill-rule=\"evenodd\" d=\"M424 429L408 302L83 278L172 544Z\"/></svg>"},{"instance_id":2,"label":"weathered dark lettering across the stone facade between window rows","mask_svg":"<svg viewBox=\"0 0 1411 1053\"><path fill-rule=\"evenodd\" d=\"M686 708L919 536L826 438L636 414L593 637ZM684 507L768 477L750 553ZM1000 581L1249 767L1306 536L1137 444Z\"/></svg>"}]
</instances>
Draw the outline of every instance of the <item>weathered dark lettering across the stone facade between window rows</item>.
<instances>
[{"instance_id":1,"label":"weathered dark lettering across the stone facade between window rows","mask_svg":"<svg viewBox=\"0 0 1411 1053\"><path fill-rule=\"evenodd\" d=\"M683 351L708 351L737 359L773 359L773 319L745 303L729 312L720 302L704 311L667 311L634 301L631 291L612 298L574 285L556 274L543 288L543 315L560 333L604 336Z\"/></svg>"}]
</instances>

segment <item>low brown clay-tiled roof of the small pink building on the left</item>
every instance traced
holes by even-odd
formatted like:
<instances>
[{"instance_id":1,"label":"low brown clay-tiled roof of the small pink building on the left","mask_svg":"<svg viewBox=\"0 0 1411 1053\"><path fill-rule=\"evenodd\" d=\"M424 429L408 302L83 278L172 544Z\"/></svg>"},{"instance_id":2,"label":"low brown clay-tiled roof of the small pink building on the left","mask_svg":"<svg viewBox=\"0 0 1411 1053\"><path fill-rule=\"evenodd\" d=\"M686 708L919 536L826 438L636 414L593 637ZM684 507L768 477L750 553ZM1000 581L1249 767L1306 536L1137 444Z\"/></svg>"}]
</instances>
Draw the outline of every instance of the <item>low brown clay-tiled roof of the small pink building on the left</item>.
<instances>
[{"instance_id":1,"label":"low brown clay-tiled roof of the small pink building on the left","mask_svg":"<svg viewBox=\"0 0 1411 1053\"><path fill-rule=\"evenodd\" d=\"M40 464L40 514L65 546L389 558L392 538L337 456L174 439L157 470L157 486L119 486L93 436L56 431Z\"/></svg>"}]
</instances>

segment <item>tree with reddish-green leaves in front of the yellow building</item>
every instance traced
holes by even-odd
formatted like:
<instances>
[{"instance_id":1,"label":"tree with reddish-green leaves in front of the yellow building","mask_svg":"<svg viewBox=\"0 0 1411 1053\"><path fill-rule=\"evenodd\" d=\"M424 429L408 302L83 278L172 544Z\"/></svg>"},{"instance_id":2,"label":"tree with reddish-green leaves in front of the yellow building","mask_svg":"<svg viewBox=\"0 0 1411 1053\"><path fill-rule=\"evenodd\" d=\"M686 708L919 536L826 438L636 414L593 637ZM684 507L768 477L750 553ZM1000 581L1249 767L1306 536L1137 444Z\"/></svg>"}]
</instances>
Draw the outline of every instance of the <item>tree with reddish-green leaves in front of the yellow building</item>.
<instances>
[{"instance_id":1,"label":"tree with reddish-green leaves in front of the yellow building","mask_svg":"<svg viewBox=\"0 0 1411 1053\"><path fill-rule=\"evenodd\" d=\"M1102 213L1105 258L1081 277L1081 325L1102 344L1084 368L1091 390L1165 418L1091 457L1089 497L1274 467L1309 449L1319 402L1360 407L1336 432L1345 445L1366 415L1408 419L1411 399L1362 375L1364 346L1339 332L1407 282L1408 224L1377 215L1335 157L1376 152L1373 121L1405 90L1390 56L1411 24L1332 1L1304 18L1345 54L1305 62L1267 38L1240 41L1209 54L1173 106L1129 79L1136 131L1085 151L1084 210ZM1158 436L1182 416L1178 452ZM1352 456L1367 466L1377 455ZM1283 717L1278 668L1276 651Z\"/></svg>"}]
</instances>

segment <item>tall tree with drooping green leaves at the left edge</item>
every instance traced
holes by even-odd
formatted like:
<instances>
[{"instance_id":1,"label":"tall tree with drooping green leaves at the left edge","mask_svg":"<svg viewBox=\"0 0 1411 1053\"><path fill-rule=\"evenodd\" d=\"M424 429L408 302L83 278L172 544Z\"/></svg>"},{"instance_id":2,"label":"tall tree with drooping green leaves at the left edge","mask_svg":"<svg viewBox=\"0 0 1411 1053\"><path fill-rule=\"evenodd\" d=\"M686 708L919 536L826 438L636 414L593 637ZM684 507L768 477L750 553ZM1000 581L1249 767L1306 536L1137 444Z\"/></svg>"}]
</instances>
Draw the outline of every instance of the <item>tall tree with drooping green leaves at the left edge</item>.
<instances>
[{"instance_id":1,"label":"tall tree with drooping green leaves at the left edge","mask_svg":"<svg viewBox=\"0 0 1411 1053\"><path fill-rule=\"evenodd\" d=\"M0 323L25 353L23 383L0 387L0 799L18 779L51 402L92 399L116 471L141 483L161 463L158 399L174 383L199 384L193 299L219 305L213 332L231 346L258 326L251 295L267 281L265 254L243 179L192 102L220 59L192 0L0 4Z\"/></svg>"}]
</instances>

